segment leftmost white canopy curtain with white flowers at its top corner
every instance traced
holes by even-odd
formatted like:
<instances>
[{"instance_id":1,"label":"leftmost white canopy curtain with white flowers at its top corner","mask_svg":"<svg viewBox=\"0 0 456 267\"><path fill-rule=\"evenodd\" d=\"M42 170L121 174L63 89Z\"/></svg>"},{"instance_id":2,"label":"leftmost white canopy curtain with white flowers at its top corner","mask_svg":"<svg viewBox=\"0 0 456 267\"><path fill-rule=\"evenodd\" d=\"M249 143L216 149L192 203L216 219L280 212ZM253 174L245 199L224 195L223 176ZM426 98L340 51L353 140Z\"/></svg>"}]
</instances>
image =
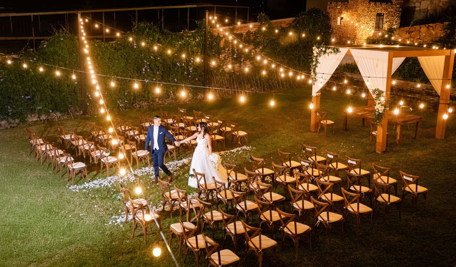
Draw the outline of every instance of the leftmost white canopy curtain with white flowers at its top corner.
<instances>
[{"instance_id":1,"label":"leftmost white canopy curtain with white flowers at its top corner","mask_svg":"<svg viewBox=\"0 0 456 267\"><path fill-rule=\"evenodd\" d=\"M323 85L329 81L329 78L331 78L348 51L347 48L339 48L339 50L339 53L328 53L318 58L318 64L315 69L316 73L312 73L312 76L315 77L315 82L312 84L312 96L316 96ZM313 53L316 53L315 49Z\"/></svg>"}]
</instances>

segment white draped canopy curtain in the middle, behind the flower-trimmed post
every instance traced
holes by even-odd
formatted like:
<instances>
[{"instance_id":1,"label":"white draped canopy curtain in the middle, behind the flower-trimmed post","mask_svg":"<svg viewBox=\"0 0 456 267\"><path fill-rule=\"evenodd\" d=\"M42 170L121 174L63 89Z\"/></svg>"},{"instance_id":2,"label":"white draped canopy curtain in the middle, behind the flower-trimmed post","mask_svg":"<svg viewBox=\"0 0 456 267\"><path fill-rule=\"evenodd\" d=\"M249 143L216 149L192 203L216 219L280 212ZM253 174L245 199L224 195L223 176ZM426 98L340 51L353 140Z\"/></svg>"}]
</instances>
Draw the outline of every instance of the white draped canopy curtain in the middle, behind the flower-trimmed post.
<instances>
[{"instance_id":1,"label":"white draped canopy curtain in the middle, behind the flower-trimmed post","mask_svg":"<svg viewBox=\"0 0 456 267\"><path fill-rule=\"evenodd\" d=\"M372 90L376 88L386 92L388 52L367 49L350 49L350 52L355 59L369 92L372 94ZM402 64L404 59L405 57L395 57L392 59L391 75Z\"/></svg>"}]
</instances>

